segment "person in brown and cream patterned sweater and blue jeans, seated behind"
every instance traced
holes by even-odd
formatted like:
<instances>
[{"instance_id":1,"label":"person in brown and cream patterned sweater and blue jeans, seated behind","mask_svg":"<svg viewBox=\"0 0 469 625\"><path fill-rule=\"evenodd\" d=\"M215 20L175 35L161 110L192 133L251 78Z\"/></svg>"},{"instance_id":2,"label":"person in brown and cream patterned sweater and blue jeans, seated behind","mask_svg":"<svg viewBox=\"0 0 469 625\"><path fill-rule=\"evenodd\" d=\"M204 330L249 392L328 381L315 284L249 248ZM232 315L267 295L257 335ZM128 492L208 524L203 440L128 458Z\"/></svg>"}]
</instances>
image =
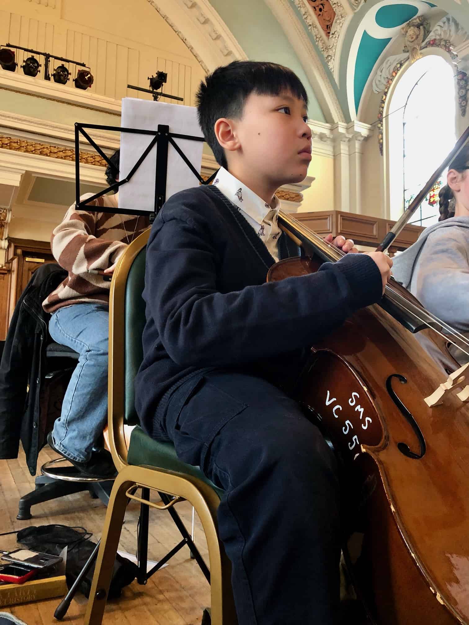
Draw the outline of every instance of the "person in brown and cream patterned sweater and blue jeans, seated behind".
<instances>
[{"instance_id":1,"label":"person in brown and cream patterned sweater and blue jeans, seated behind","mask_svg":"<svg viewBox=\"0 0 469 625\"><path fill-rule=\"evenodd\" d=\"M119 151L111 162L119 168ZM116 182L110 167L106 179ZM51 313L49 334L78 352L79 359L48 443L83 474L107 477L115 473L111 454L94 446L107 419L111 283L93 271L112 274L128 244L149 227L149 219L98 212L99 207L117 208L118 194L99 197L93 205L96 212L77 211L73 204L51 238L54 257L68 277L44 299L44 310Z\"/></svg>"}]
</instances>

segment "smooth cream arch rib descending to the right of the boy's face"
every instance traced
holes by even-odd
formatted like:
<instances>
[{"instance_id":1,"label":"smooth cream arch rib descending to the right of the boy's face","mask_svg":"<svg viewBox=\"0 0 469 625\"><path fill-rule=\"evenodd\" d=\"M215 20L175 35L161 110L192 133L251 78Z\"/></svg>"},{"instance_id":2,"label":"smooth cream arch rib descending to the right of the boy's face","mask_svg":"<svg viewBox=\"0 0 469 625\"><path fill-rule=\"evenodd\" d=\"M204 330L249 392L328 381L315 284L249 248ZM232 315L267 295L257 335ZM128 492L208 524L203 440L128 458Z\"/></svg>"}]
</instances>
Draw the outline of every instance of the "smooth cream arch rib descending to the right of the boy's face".
<instances>
[{"instance_id":1,"label":"smooth cream arch rib descending to the right of the boy's face","mask_svg":"<svg viewBox=\"0 0 469 625\"><path fill-rule=\"evenodd\" d=\"M339 101L331 86L330 79L321 63L315 47L305 32L303 25L291 8L290 0L264 0L279 22L301 66L315 90L316 98L328 122L345 121ZM315 18L316 19L316 18Z\"/></svg>"}]
</instances>

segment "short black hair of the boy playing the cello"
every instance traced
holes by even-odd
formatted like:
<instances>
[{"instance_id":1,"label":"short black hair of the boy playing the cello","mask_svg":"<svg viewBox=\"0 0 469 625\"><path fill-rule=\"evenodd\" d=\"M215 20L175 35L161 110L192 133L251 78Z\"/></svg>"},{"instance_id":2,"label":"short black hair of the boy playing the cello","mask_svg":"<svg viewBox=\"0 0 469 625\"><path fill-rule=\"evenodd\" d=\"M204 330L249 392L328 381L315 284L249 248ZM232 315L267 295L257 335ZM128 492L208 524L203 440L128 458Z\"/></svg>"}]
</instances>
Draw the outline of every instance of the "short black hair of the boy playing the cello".
<instances>
[{"instance_id":1,"label":"short black hair of the boy playing the cello","mask_svg":"<svg viewBox=\"0 0 469 625\"><path fill-rule=\"evenodd\" d=\"M205 141L219 165L228 167L224 149L216 140L214 125L217 119L240 119L245 101L251 93L278 96L290 92L308 106L306 89L291 69L263 61L233 61L216 68L199 86L196 94L199 124Z\"/></svg>"}]
</instances>

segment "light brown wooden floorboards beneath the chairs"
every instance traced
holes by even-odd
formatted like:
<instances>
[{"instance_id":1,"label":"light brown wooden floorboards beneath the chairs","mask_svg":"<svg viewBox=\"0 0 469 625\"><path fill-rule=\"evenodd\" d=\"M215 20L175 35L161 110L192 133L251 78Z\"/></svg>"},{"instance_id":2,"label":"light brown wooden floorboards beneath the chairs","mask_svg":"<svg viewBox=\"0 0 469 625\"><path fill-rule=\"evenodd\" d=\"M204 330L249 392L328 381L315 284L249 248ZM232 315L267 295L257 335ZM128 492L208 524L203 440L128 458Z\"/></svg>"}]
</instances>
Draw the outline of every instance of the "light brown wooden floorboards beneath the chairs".
<instances>
[{"instance_id":1,"label":"light brown wooden floorboards beneath the chairs","mask_svg":"<svg viewBox=\"0 0 469 625\"><path fill-rule=\"evenodd\" d=\"M58 457L49 447L39 454L38 466ZM91 540L101 536L106 507L99 499L91 499L88 492L79 492L68 497L33 506L33 518L30 521L17 521L19 497L34 489L34 477L26 467L24 453L20 450L18 460L0 460L0 533L22 529L29 525L63 523L69 526L83 526L93 532ZM179 515L191 525L191 507L187 502L176 506ZM136 552L136 529L139 506L129 504L126 520L121 534L119 549L131 554ZM161 559L179 542L180 534L174 527L168 512L150 509L150 527L148 557ZM202 556L208 562L206 542L201 524L196 518L195 542ZM16 536L0 537L0 549L18 547ZM52 625L53 614L60 599L0 608L11 612L28 625ZM83 622L86 598L77 594L69 607L63 622L79 624ZM111 601L106 607L103 624L128 625L139 621L156 625L196 625L201 622L204 607L210 605L208 582L201 574L195 561L189 558L189 550L183 547L170 561L168 566L154 574L146 586L139 586L134 581L124 588L120 599Z\"/></svg>"}]
</instances>

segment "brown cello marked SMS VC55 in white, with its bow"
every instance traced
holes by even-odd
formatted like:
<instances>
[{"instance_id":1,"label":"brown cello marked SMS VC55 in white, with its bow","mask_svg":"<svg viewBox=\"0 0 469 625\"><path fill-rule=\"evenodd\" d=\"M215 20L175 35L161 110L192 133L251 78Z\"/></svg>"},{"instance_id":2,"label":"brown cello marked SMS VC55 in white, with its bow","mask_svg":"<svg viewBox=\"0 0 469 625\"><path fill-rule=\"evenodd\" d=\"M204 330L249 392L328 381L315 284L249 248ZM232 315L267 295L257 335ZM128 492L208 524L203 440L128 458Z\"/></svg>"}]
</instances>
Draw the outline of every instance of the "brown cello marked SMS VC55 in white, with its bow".
<instances>
[{"instance_id":1,"label":"brown cello marked SMS VC55 in white, with its bow","mask_svg":"<svg viewBox=\"0 0 469 625\"><path fill-rule=\"evenodd\" d=\"M469 128L377 251L387 249L468 139ZM343 256L290 215L281 212L279 224L308 256L276 263L268 281ZM438 351L436 361L423 337ZM340 461L343 553L376 625L469 625L469 403L451 387L436 405L425 401L459 369L450 343L469 354L465 337L391 279L379 304L311 346L295 391ZM456 378L460 390L469 369L467 380Z\"/></svg>"}]
</instances>

